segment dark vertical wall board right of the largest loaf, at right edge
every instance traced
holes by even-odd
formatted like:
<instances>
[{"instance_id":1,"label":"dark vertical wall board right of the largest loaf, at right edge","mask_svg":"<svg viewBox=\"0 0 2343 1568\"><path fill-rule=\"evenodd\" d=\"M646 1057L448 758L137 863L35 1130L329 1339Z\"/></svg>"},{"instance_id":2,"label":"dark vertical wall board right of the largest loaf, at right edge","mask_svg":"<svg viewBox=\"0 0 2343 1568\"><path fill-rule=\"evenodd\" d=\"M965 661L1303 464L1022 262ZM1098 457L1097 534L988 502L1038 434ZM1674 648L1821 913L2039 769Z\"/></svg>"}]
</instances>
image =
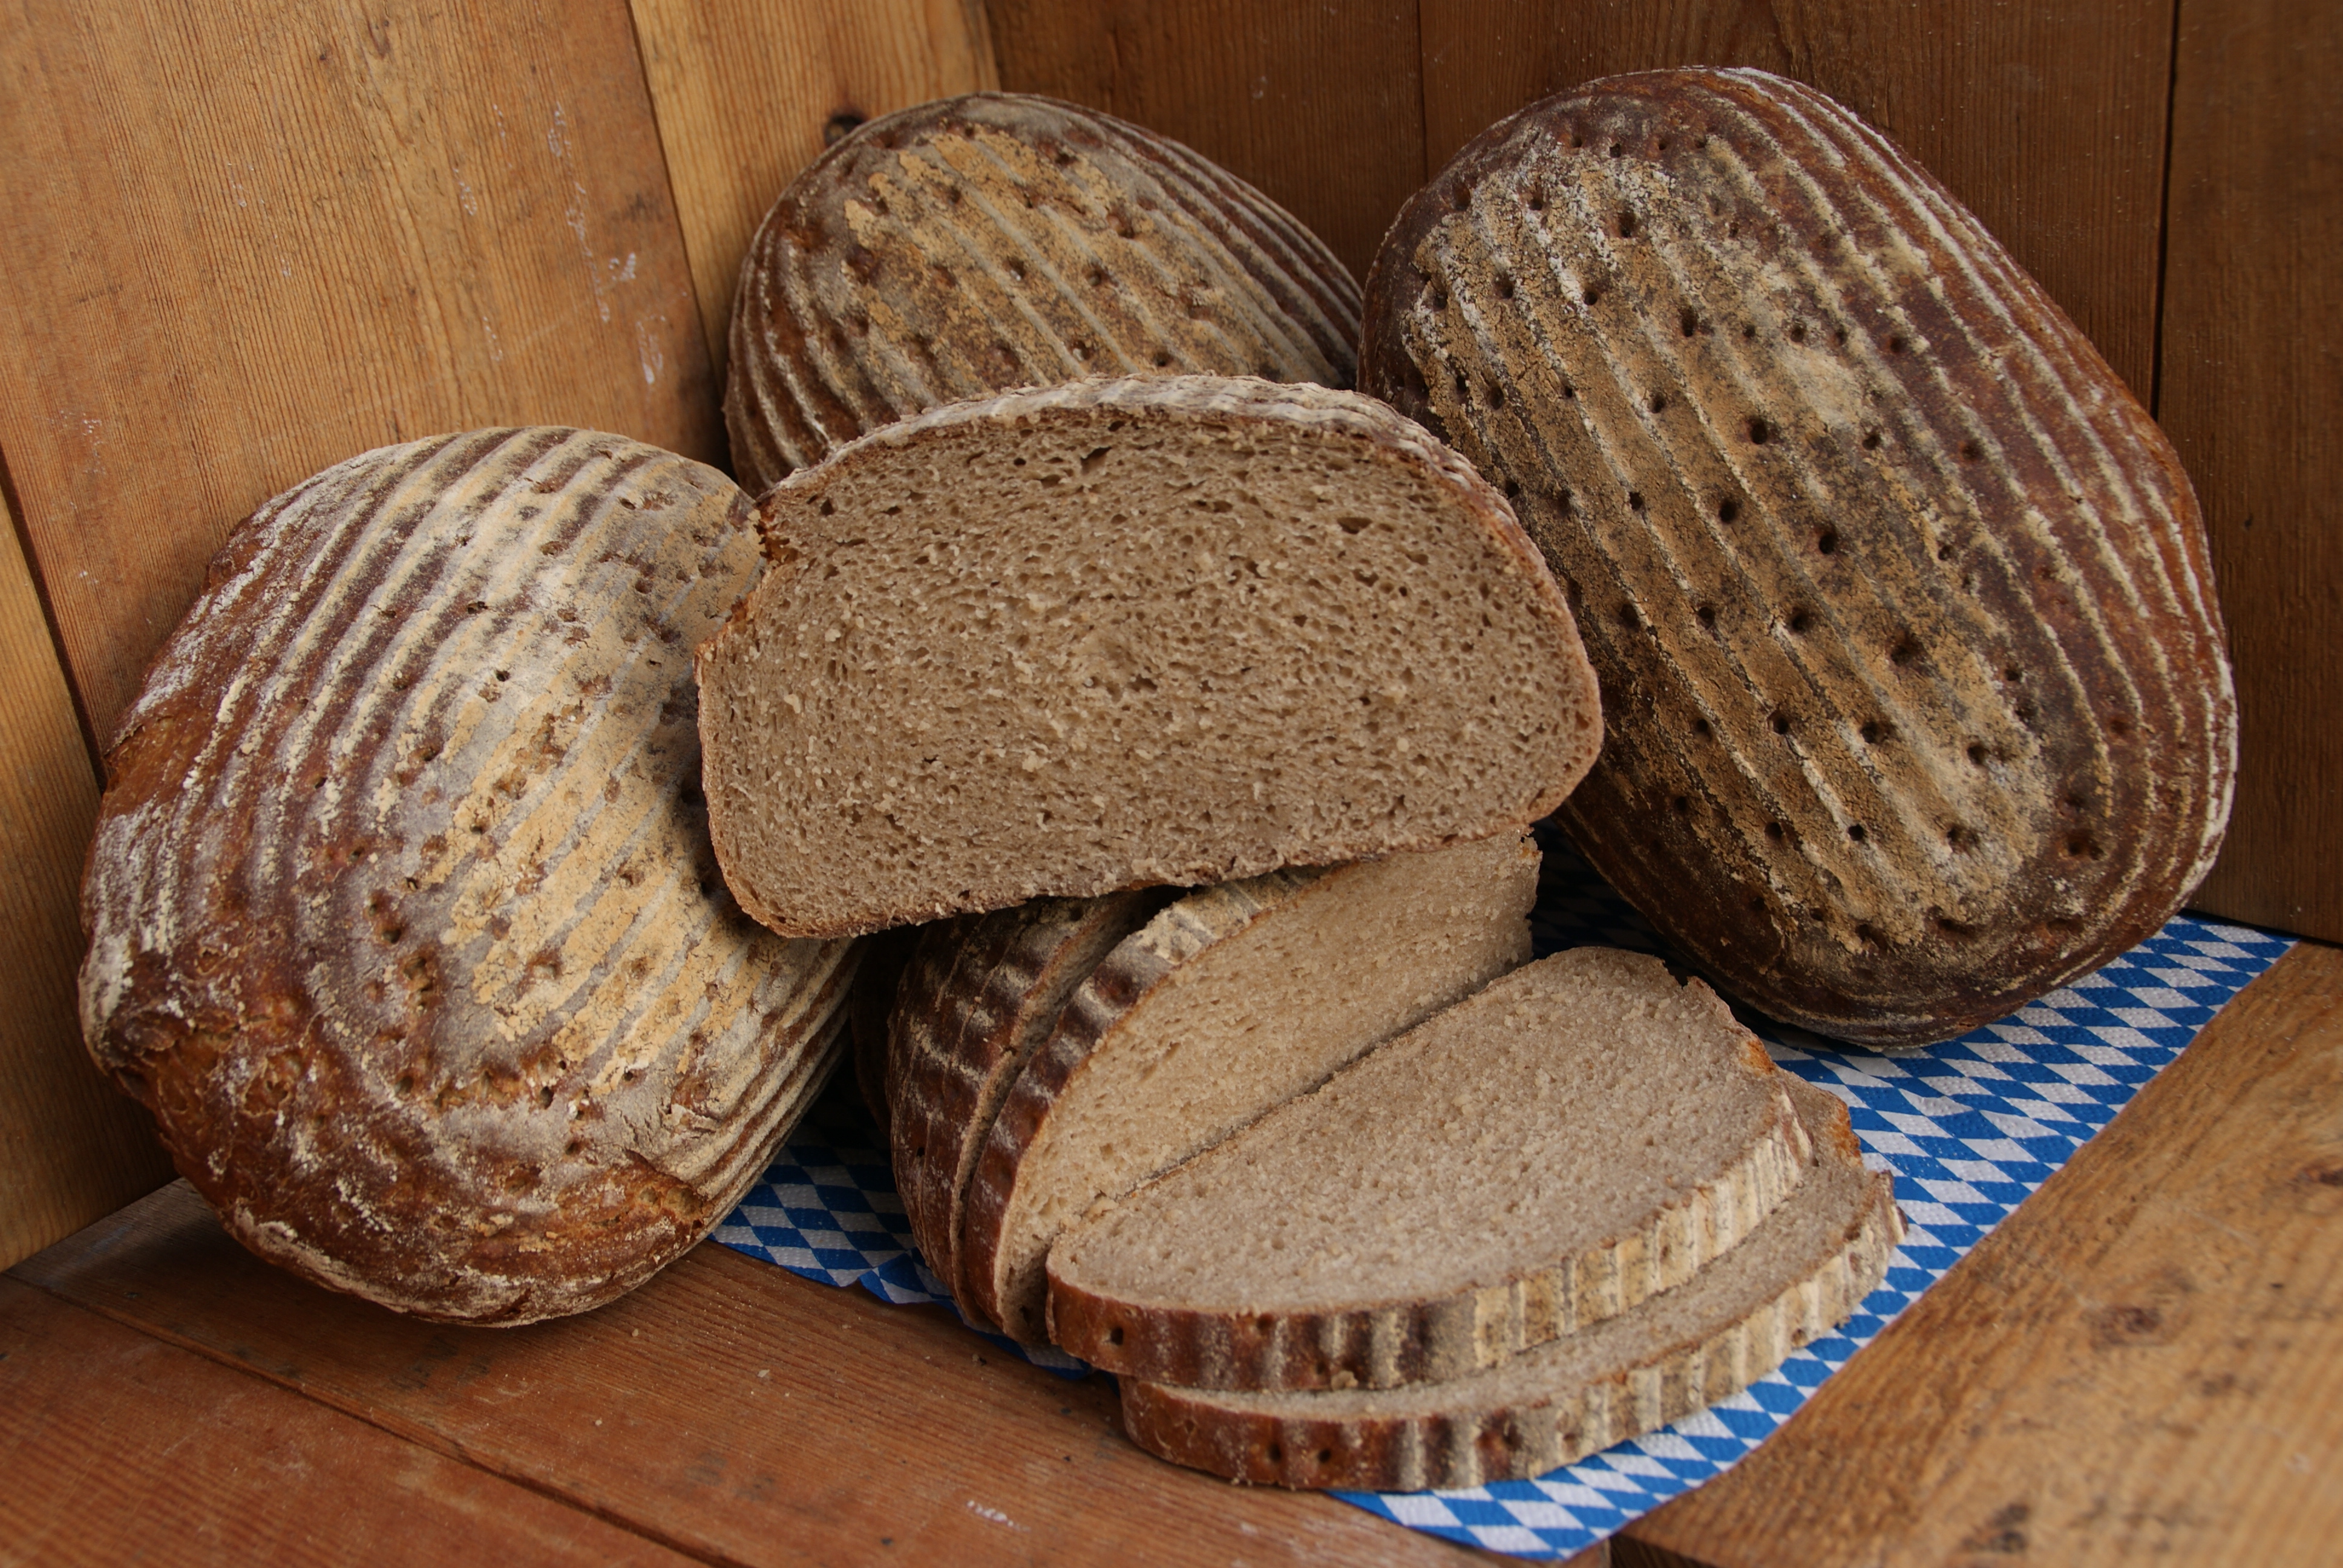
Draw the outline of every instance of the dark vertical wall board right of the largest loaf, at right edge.
<instances>
[{"instance_id":1,"label":"dark vertical wall board right of the largest loaf, at right edge","mask_svg":"<svg viewBox=\"0 0 2343 1568\"><path fill-rule=\"evenodd\" d=\"M2184 0L2158 420L2238 666L2238 806L2198 905L2343 940L2343 9Z\"/></svg>"}]
</instances>

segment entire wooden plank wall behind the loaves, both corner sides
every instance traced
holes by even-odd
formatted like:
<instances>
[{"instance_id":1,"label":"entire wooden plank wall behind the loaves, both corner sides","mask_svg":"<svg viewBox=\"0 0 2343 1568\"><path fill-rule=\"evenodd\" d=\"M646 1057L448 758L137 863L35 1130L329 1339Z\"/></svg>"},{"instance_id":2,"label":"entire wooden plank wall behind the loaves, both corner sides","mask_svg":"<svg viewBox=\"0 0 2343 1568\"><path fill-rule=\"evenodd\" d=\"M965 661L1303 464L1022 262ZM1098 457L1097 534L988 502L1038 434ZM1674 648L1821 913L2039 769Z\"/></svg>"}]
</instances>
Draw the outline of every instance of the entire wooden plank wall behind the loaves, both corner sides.
<instances>
[{"instance_id":1,"label":"entire wooden plank wall behind the loaves, both corner sides","mask_svg":"<svg viewBox=\"0 0 2343 1568\"><path fill-rule=\"evenodd\" d=\"M1579 80L1750 63L1851 103L2163 408L2247 724L2202 902L2343 940L2338 54L2315 0L0 0L0 1261L162 1172L75 1036L70 738L234 520L471 424L722 459L773 192L825 134L989 84L1193 143L1361 272L1457 145Z\"/></svg>"}]
</instances>

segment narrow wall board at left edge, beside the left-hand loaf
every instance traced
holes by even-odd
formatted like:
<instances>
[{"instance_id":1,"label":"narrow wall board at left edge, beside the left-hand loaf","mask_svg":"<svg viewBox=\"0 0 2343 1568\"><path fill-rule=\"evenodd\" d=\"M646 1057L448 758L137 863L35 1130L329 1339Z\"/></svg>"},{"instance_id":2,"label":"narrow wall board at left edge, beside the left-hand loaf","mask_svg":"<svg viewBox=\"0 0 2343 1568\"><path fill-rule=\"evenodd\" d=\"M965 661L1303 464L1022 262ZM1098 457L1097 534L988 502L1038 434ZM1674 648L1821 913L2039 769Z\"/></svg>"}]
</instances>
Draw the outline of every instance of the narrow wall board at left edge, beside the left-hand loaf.
<instances>
[{"instance_id":1,"label":"narrow wall board at left edge, beside the left-hand loaf","mask_svg":"<svg viewBox=\"0 0 2343 1568\"><path fill-rule=\"evenodd\" d=\"M98 780L0 497L0 1268L171 1179L148 1113L82 1050L82 846Z\"/></svg>"}]
</instances>

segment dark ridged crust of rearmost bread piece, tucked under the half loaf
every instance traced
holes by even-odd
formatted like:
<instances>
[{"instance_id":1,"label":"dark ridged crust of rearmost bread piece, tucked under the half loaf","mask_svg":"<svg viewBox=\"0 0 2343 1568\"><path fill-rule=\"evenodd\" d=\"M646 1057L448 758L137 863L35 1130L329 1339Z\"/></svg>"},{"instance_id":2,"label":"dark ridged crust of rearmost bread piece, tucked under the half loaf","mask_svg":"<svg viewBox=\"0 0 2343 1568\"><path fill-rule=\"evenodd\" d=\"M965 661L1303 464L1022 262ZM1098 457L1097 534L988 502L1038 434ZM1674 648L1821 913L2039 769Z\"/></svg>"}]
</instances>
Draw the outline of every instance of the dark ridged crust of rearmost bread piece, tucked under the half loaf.
<instances>
[{"instance_id":1,"label":"dark ridged crust of rearmost bread piece, tucked under the half loaf","mask_svg":"<svg viewBox=\"0 0 2343 1568\"><path fill-rule=\"evenodd\" d=\"M1040 898L923 928L888 1022L890 1153L911 1240L970 1317L961 1212L1000 1099L1073 987L1167 898Z\"/></svg>"}]
</instances>

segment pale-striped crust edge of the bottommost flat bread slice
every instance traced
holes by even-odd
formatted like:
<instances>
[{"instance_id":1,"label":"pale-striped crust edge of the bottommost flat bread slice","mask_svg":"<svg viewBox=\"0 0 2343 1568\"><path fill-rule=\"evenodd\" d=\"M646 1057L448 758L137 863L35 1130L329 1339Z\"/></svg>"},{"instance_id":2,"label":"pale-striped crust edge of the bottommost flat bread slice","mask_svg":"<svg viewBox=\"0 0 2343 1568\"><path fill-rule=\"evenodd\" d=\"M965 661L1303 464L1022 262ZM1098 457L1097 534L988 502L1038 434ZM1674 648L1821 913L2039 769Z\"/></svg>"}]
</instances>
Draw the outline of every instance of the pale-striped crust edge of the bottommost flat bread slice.
<instances>
[{"instance_id":1,"label":"pale-striped crust edge of the bottommost flat bread slice","mask_svg":"<svg viewBox=\"0 0 2343 1568\"><path fill-rule=\"evenodd\" d=\"M1425 1491L1546 1474L1741 1392L1844 1322L1886 1275L1903 1238L1893 1179L1860 1167L1846 1109L1809 1085L1795 1092L1816 1160L1835 1160L1853 1179L1858 1202L1844 1214L1837 1245L1757 1310L1591 1378L1518 1399L1460 1395L1439 1413L1312 1413L1310 1404L1326 1395L1284 1395L1261 1402L1275 1409L1246 1409L1242 1397L1122 1378L1125 1432L1148 1453L1232 1481ZM1837 1106L1835 1116L1821 1102Z\"/></svg>"}]
</instances>

